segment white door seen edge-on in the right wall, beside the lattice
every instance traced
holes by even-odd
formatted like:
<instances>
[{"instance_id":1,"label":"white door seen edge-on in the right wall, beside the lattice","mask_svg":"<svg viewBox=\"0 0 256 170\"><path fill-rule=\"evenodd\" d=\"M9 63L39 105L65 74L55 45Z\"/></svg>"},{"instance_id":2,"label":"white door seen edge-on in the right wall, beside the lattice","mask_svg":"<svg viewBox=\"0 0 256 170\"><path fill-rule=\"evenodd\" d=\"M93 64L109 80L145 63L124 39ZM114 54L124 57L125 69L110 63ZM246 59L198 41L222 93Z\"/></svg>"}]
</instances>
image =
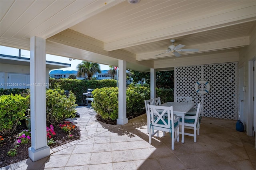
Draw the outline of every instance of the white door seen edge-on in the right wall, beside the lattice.
<instances>
[{"instance_id":1,"label":"white door seen edge-on in the right wall, beside the lattice","mask_svg":"<svg viewBox=\"0 0 256 170\"><path fill-rule=\"evenodd\" d=\"M238 70L238 119L244 123L244 67Z\"/></svg>"}]
</instances>

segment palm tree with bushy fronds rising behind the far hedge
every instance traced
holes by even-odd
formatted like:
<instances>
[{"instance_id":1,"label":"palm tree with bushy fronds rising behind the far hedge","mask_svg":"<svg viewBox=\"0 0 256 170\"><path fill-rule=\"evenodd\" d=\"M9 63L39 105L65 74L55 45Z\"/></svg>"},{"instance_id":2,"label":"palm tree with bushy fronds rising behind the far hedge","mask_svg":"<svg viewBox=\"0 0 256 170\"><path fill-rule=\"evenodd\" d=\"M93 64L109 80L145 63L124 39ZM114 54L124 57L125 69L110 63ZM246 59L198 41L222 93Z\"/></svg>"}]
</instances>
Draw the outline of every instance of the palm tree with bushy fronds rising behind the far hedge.
<instances>
[{"instance_id":1,"label":"palm tree with bushy fronds rising behind the far hedge","mask_svg":"<svg viewBox=\"0 0 256 170\"><path fill-rule=\"evenodd\" d=\"M82 63L76 66L76 69L77 77L80 75L87 75L88 80L90 80L95 73L101 73L100 65L98 63L92 63L89 61L82 61Z\"/></svg>"}]
</instances>

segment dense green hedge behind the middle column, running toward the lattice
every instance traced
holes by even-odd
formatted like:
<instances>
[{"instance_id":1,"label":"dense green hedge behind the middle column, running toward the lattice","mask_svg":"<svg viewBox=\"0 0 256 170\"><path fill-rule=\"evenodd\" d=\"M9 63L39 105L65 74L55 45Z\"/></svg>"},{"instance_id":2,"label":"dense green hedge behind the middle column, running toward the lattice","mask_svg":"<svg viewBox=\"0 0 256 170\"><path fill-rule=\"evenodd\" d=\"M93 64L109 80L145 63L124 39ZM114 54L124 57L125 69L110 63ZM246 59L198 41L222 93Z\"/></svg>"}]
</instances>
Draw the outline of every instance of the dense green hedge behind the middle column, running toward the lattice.
<instances>
[{"instance_id":1,"label":"dense green hedge behind the middle column, running toward the lattice","mask_svg":"<svg viewBox=\"0 0 256 170\"><path fill-rule=\"evenodd\" d=\"M94 96L94 111L102 119L118 119L118 87L95 89L92 92ZM156 89L156 96L160 96L161 102L173 101L172 89ZM130 87L126 89L126 113L146 113L144 100L150 99L150 88Z\"/></svg>"}]
</instances>

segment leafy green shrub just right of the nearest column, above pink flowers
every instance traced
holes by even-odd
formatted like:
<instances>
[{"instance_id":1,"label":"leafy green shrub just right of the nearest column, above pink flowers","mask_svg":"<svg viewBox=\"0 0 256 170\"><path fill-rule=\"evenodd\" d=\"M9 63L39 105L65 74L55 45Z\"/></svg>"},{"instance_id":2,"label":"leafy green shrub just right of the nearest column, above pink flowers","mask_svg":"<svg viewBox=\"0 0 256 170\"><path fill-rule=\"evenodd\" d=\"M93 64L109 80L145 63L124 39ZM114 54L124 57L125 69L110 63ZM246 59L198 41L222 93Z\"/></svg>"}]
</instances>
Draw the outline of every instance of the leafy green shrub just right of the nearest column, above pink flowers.
<instances>
[{"instance_id":1,"label":"leafy green shrub just right of the nearest column, above pink flowers","mask_svg":"<svg viewBox=\"0 0 256 170\"><path fill-rule=\"evenodd\" d=\"M64 90L49 89L46 91L46 121L50 124L60 123L66 118L74 118L76 97L70 92L66 97Z\"/></svg>"}]
</instances>

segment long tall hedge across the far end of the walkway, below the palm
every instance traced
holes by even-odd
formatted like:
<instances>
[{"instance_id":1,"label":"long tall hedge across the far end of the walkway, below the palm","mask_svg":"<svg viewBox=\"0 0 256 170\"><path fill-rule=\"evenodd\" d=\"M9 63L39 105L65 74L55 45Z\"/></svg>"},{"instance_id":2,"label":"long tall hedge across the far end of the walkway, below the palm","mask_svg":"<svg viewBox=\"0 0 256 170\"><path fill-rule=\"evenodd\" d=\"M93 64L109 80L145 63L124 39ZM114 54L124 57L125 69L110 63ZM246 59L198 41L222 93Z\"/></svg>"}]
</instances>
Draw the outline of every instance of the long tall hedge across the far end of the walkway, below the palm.
<instances>
[{"instance_id":1,"label":"long tall hedge across the far end of the walkway, below the palm","mask_svg":"<svg viewBox=\"0 0 256 170\"><path fill-rule=\"evenodd\" d=\"M116 87L116 80L103 79L103 80L78 80L78 79L52 79L49 80L50 89L60 88L63 90L72 91L76 96L76 103L82 105L84 103L83 93L87 89L96 89L102 87Z\"/></svg>"}]
</instances>

